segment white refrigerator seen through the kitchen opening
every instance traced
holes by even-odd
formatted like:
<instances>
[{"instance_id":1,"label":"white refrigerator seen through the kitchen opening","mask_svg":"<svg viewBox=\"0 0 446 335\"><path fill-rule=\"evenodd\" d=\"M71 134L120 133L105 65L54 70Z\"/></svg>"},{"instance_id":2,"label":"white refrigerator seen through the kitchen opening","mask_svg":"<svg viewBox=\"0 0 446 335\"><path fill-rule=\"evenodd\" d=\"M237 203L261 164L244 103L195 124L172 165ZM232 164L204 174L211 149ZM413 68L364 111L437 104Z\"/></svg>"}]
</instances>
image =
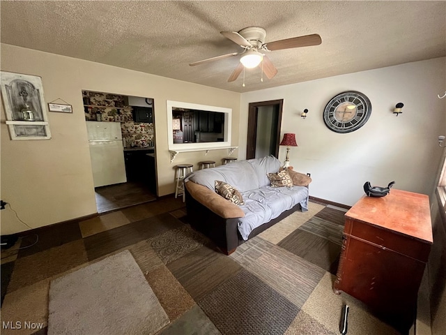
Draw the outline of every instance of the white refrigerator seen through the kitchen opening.
<instances>
[{"instance_id":1,"label":"white refrigerator seen through the kitchen opening","mask_svg":"<svg viewBox=\"0 0 446 335\"><path fill-rule=\"evenodd\" d=\"M125 183L124 147L119 122L86 121L95 187Z\"/></svg>"}]
</instances>

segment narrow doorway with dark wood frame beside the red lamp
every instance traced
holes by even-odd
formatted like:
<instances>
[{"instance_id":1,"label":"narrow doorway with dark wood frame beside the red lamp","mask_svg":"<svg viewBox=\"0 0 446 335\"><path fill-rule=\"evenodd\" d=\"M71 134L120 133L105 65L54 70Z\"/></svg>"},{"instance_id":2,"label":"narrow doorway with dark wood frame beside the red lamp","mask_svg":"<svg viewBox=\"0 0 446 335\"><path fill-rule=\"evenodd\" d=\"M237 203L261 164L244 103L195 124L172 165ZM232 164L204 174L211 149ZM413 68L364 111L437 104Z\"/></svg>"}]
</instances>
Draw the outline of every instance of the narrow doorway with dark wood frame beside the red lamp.
<instances>
[{"instance_id":1,"label":"narrow doorway with dark wood frame beside the red lamp","mask_svg":"<svg viewBox=\"0 0 446 335\"><path fill-rule=\"evenodd\" d=\"M279 156L284 100L249 103L246 159Z\"/></svg>"}]
</instances>

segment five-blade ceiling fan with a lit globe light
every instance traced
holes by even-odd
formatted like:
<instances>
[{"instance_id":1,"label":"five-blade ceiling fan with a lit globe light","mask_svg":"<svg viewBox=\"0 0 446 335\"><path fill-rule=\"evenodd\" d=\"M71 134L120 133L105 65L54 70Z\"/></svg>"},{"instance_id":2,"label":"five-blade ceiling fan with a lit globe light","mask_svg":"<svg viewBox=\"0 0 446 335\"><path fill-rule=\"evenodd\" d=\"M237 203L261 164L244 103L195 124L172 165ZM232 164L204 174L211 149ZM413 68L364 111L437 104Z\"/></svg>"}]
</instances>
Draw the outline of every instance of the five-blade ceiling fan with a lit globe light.
<instances>
[{"instance_id":1,"label":"five-blade ceiling fan with a lit globe light","mask_svg":"<svg viewBox=\"0 0 446 335\"><path fill-rule=\"evenodd\" d=\"M240 47L243 47L243 51L222 54L221 56L195 61L189 65L196 66L210 61L218 61L220 59L242 55L242 57L240 57L240 64L238 64L233 71L228 82L236 80L244 68L255 68L260 64L263 73L266 74L268 79L274 77L277 74L277 68L275 68L274 64L272 64L272 61L270 61L266 54L261 52L284 50L292 47L309 47L322 43L321 36L318 34L286 38L284 40L275 40L274 42L265 43L266 30L260 27L247 27L238 31L238 33L235 31L222 31L220 34L240 45Z\"/></svg>"}]
</instances>

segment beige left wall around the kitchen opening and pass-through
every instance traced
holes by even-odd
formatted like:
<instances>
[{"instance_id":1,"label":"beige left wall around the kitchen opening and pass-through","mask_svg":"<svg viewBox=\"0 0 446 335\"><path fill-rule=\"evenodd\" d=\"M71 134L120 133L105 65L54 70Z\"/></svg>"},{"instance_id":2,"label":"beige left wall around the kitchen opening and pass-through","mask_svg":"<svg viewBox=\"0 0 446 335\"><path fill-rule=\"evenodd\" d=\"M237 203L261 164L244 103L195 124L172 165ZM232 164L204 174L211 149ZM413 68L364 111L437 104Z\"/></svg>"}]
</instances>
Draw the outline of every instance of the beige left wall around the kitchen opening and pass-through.
<instances>
[{"instance_id":1,"label":"beige left wall around the kitchen opening and pass-through","mask_svg":"<svg viewBox=\"0 0 446 335\"><path fill-rule=\"evenodd\" d=\"M174 192L174 165L227 156L227 150L178 154L170 163L166 101L229 107L231 144L238 146L240 94L56 54L1 44L1 70L42 77L45 103L63 99L72 114L49 112L51 140L11 141L1 106L1 199L31 228L96 212L82 89L155 99L158 195ZM236 151L233 156L237 156ZM10 209L1 234L27 230Z\"/></svg>"}]
</instances>

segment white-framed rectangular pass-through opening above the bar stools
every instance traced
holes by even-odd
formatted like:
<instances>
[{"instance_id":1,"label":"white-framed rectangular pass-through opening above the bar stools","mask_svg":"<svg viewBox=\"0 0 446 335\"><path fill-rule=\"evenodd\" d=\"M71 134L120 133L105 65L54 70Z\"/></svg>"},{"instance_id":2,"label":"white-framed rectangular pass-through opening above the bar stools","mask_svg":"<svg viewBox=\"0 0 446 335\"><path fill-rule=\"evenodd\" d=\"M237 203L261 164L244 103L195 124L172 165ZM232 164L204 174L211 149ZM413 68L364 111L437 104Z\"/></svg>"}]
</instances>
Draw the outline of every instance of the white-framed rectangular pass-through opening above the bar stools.
<instances>
[{"instance_id":1,"label":"white-framed rectangular pass-through opening above the bar stools","mask_svg":"<svg viewBox=\"0 0 446 335\"><path fill-rule=\"evenodd\" d=\"M169 150L231 147L232 109L167 101Z\"/></svg>"}]
</instances>

